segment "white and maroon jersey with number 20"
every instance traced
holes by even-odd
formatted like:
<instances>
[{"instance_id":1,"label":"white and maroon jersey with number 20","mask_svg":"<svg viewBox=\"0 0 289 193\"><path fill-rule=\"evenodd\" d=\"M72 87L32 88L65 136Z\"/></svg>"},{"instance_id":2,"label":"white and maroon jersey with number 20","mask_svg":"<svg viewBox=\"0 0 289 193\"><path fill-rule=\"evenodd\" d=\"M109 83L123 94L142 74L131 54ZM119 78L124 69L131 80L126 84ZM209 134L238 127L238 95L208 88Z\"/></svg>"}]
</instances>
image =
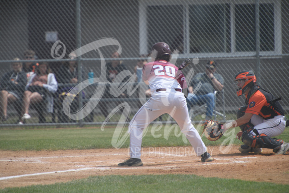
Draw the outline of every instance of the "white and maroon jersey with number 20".
<instances>
[{"instance_id":1,"label":"white and maroon jersey with number 20","mask_svg":"<svg viewBox=\"0 0 289 193\"><path fill-rule=\"evenodd\" d=\"M156 60L144 65L143 80L148 81L151 92L159 88L187 88L183 73L174 64Z\"/></svg>"}]
</instances>

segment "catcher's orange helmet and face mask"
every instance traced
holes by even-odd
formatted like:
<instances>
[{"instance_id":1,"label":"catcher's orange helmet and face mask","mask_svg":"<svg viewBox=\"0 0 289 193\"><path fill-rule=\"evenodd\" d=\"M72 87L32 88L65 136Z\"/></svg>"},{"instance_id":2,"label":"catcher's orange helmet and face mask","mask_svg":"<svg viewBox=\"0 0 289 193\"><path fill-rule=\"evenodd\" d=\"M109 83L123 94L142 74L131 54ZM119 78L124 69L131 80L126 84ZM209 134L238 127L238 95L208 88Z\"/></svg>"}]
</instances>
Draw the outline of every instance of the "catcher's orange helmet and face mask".
<instances>
[{"instance_id":1,"label":"catcher's orange helmet and face mask","mask_svg":"<svg viewBox=\"0 0 289 193\"><path fill-rule=\"evenodd\" d=\"M235 75L235 81L238 81L236 83L237 96L241 96L248 88L253 87L254 84L256 84L257 79L253 70L243 70Z\"/></svg>"}]
</instances>

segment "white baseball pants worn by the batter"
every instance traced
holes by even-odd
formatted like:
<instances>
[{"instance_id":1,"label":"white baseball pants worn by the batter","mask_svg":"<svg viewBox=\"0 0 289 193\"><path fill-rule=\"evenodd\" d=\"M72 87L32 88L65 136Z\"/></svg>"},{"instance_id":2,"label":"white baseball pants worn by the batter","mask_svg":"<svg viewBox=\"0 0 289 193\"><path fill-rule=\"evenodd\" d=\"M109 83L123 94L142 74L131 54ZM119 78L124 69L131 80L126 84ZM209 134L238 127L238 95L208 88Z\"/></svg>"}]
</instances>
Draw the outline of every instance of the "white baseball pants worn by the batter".
<instances>
[{"instance_id":1,"label":"white baseball pants worn by the batter","mask_svg":"<svg viewBox=\"0 0 289 193\"><path fill-rule=\"evenodd\" d=\"M198 131L189 119L186 99L182 92L174 89L153 92L151 98L140 108L129 125L130 157L141 158L143 131L160 115L168 113L178 124L181 132L192 145L197 156L207 152Z\"/></svg>"}]
</instances>

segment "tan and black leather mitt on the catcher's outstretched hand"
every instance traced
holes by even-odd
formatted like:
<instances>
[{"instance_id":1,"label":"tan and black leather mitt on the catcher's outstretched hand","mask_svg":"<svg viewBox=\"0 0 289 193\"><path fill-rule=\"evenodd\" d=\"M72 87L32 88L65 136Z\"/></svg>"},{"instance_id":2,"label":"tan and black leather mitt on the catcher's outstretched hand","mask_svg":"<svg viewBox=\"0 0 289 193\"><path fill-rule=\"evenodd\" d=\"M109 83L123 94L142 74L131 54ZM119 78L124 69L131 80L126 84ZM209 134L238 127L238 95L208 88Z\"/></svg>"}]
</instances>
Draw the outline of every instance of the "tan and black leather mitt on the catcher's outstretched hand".
<instances>
[{"instance_id":1,"label":"tan and black leather mitt on the catcher's outstretched hand","mask_svg":"<svg viewBox=\"0 0 289 193\"><path fill-rule=\"evenodd\" d=\"M208 140L216 141L223 136L224 125L219 122L209 120L204 124L203 133L205 133Z\"/></svg>"}]
</instances>

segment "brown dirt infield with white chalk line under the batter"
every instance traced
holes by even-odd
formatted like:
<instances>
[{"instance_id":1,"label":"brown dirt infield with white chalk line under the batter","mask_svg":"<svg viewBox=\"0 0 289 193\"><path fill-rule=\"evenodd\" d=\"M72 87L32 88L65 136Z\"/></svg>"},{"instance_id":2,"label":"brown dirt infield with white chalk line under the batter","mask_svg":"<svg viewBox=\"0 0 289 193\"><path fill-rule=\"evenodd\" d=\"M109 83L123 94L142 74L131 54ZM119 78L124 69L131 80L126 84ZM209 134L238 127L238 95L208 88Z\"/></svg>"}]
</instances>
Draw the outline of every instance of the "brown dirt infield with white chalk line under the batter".
<instances>
[{"instance_id":1,"label":"brown dirt infield with white chalk line under the batter","mask_svg":"<svg viewBox=\"0 0 289 193\"><path fill-rule=\"evenodd\" d=\"M143 167L118 167L128 149L66 151L0 151L0 188L68 182L97 175L195 174L257 182L289 184L289 153L227 154L208 147L213 162L202 163L192 148L144 148Z\"/></svg>"}]
</instances>

